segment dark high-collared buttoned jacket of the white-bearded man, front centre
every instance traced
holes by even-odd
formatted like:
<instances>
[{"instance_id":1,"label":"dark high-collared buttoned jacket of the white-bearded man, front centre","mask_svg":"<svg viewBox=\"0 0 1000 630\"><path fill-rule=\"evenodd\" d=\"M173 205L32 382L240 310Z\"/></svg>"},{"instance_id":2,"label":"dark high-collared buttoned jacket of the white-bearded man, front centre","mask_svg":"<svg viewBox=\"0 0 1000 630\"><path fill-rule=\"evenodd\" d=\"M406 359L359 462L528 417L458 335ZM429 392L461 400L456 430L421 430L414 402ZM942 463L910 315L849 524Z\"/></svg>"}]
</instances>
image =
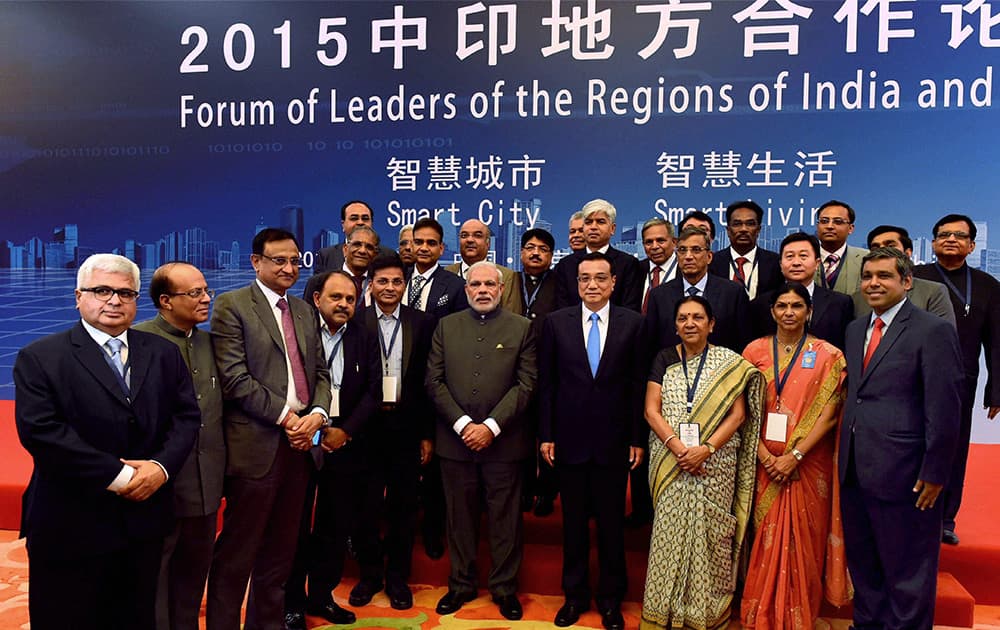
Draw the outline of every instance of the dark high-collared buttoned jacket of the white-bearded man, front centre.
<instances>
[{"instance_id":1,"label":"dark high-collared buttoned jacket of the white-bearded man, front centre","mask_svg":"<svg viewBox=\"0 0 1000 630\"><path fill-rule=\"evenodd\" d=\"M425 384L437 412L435 451L458 461L512 462L531 456L535 436L524 411L535 390L537 365L531 324L502 308L471 308L437 324ZM486 449L465 446L452 428L468 415L493 418L500 435Z\"/></svg>"}]
</instances>

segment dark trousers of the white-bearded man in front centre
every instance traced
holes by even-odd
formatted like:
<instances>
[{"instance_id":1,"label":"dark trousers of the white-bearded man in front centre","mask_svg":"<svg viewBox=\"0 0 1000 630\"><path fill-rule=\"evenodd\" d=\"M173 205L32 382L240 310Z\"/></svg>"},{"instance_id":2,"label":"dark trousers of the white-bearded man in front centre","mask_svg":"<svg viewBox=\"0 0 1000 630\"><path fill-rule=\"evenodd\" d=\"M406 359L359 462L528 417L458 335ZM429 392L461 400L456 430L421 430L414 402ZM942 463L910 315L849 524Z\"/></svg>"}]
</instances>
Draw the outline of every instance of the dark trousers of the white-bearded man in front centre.
<instances>
[{"instance_id":1,"label":"dark trousers of the white-bearded man in front centre","mask_svg":"<svg viewBox=\"0 0 1000 630\"><path fill-rule=\"evenodd\" d=\"M489 523L489 589L494 596L517 592L517 572L524 552L520 500L523 463L460 462L441 458L447 505L448 588L476 592L476 551L479 546L480 499L486 500Z\"/></svg>"}]
</instances>

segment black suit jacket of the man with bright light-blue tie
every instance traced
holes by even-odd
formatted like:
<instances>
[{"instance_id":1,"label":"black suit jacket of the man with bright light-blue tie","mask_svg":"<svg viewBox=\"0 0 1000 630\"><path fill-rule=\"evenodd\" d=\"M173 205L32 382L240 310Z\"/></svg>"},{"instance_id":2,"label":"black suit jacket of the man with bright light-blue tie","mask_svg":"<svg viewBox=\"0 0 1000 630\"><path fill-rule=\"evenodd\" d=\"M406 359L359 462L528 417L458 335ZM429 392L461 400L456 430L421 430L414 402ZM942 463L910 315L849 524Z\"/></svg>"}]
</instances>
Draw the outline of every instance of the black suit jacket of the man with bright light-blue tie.
<instances>
[{"instance_id":1,"label":"black suit jacket of the man with bright light-blue tie","mask_svg":"<svg viewBox=\"0 0 1000 630\"><path fill-rule=\"evenodd\" d=\"M629 446L645 448L642 316L611 305L597 375L590 373L582 306L545 319L539 339L539 441L555 442L556 461L624 464ZM648 433L646 433L648 435Z\"/></svg>"}]
</instances>

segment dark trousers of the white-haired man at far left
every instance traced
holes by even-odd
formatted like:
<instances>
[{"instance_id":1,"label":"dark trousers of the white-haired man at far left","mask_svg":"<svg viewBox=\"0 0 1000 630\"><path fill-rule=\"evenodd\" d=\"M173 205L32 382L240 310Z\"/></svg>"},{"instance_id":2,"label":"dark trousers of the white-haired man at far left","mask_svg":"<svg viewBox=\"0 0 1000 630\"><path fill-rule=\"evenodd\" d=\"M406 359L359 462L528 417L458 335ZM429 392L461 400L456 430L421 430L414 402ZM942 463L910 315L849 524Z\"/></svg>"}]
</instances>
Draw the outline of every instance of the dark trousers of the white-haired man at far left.
<instances>
[{"instance_id":1,"label":"dark trousers of the white-haired man at far left","mask_svg":"<svg viewBox=\"0 0 1000 630\"><path fill-rule=\"evenodd\" d=\"M66 523L72 537L72 523ZM134 630L156 622L160 538L98 556L28 552L28 616L34 630Z\"/></svg>"}]
</instances>

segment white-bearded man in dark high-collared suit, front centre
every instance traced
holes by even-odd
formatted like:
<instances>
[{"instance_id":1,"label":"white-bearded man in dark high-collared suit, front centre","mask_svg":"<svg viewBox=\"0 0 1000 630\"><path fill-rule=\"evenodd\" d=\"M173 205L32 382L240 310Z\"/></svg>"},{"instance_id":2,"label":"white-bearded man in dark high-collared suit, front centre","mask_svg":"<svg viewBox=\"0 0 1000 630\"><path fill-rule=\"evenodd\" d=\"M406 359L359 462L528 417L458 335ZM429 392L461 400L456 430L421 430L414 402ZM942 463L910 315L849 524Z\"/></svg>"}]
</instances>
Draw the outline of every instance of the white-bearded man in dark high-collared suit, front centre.
<instances>
[{"instance_id":1,"label":"white-bearded man in dark high-collared suit, front centre","mask_svg":"<svg viewBox=\"0 0 1000 630\"><path fill-rule=\"evenodd\" d=\"M520 619L517 572L522 517L518 505L523 460L534 453L524 420L535 387L535 339L530 322L500 308L500 271L482 261L469 270L471 308L438 322L426 385L437 412L435 450L441 458L451 575L440 615L476 598L480 498L489 517L489 589L500 613Z\"/></svg>"}]
</instances>

